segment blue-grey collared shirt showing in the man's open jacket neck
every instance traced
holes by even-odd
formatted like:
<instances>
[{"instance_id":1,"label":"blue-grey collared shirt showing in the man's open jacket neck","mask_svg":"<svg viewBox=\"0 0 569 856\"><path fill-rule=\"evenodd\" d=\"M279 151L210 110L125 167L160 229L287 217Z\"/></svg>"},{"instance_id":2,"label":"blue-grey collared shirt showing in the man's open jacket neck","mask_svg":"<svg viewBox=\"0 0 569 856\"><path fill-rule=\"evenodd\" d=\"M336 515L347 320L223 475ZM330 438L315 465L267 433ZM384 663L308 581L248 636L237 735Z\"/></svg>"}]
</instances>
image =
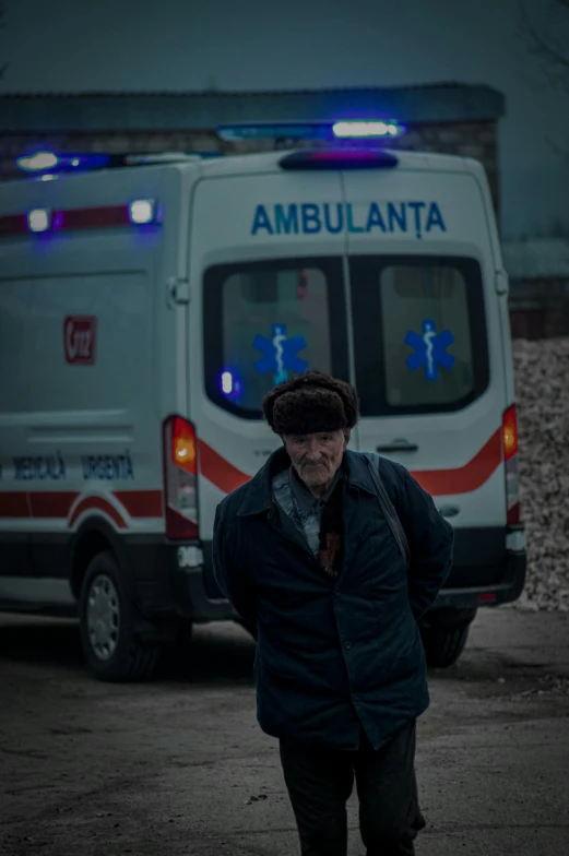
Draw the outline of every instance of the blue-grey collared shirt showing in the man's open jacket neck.
<instances>
[{"instance_id":1,"label":"blue-grey collared shirt showing in the man's open jacket neck","mask_svg":"<svg viewBox=\"0 0 569 856\"><path fill-rule=\"evenodd\" d=\"M315 556L318 556L320 550L322 512L341 477L342 472L339 468L332 484L322 497L315 497L308 490L293 465L273 478L272 488L276 501L297 528L304 533Z\"/></svg>"}]
</instances>

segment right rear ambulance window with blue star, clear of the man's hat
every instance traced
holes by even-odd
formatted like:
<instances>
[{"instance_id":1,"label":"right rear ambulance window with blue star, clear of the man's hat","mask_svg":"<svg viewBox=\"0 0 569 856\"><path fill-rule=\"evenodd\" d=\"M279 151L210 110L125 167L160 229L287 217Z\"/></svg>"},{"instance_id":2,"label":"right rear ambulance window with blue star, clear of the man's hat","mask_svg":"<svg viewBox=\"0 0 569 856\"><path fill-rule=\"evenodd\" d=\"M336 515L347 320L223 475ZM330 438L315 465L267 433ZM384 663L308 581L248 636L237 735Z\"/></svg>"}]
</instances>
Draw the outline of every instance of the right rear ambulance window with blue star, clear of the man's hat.
<instances>
[{"instance_id":1,"label":"right rear ambulance window with blue star, clear of the man's hat","mask_svg":"<svg viewBox=\"0 0 569 856\"><path fill-rule=\"evenodd\" d=\"M363 416L465 407L488 385L482 276L473 259L351 259Z\"/></svg>"}]
</instances>

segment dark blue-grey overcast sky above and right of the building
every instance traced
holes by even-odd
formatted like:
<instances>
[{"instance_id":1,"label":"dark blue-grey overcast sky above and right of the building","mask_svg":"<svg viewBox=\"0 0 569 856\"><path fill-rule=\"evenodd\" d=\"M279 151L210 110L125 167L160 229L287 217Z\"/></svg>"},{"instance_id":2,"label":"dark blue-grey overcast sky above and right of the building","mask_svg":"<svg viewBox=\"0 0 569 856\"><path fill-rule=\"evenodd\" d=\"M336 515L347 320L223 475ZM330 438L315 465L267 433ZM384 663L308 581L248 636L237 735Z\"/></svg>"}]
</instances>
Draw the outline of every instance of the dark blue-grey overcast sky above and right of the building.
<instances>
[{"instance_id":1,"label":"dark blue-grey overcast sky above and right of the building","mask_svg":"<svg viewBox=\"0 0 569 856\"><path fill-rule=\"evenodd\" d=\"M553 0L529 7L559 34ZM5 9L0 92L495 86L507 96L503 236L559 226L569 235L569 154L548 142L569 152L569 90L544 82L520 37L517 0L8 0Z\"/></svg>"}]
</instances>

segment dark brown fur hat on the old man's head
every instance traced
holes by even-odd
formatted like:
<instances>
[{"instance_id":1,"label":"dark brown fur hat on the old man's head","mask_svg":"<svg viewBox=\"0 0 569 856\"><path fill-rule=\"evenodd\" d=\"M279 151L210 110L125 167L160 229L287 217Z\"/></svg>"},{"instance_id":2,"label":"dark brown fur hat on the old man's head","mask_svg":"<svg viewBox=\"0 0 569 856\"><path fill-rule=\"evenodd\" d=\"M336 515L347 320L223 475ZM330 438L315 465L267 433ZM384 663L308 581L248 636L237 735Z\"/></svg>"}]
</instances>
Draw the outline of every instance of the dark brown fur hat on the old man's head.
<instances>
[{"instance_id":1,"label":"dark brown fur hat on the old man's head","mask_svg":"<svg viewBox=\"0 0 569 856\"><path fill-rule=\"evenodd\" d=\"M358 416L357 392L343 380L308 371L265 395L263 414L281 436L353 428Z\"/></svg>"}]
</instances>

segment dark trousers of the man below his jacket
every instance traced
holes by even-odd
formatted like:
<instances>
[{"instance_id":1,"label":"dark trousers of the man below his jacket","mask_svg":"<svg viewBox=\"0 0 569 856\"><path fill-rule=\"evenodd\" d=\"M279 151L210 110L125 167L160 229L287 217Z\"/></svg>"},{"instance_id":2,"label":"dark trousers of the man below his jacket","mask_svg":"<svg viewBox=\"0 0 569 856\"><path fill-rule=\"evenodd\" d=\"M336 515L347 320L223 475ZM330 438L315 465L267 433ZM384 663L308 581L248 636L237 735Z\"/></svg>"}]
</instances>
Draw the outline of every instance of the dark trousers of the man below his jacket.
<instances>
[{"instance_id":1,"label":"dark trousers of the man below his jacket","mask_svg":"<svg viewBox=\"0 0 569 856\"><path fill-rule=\"evenodd\" d=\"M377 751L363 729L357 751L281 740L303 856L346 856L354 777L367 856L414 856L413 842L426 825L415 778L415 730L413 722Z\"/></svg>"}]
</instances>

